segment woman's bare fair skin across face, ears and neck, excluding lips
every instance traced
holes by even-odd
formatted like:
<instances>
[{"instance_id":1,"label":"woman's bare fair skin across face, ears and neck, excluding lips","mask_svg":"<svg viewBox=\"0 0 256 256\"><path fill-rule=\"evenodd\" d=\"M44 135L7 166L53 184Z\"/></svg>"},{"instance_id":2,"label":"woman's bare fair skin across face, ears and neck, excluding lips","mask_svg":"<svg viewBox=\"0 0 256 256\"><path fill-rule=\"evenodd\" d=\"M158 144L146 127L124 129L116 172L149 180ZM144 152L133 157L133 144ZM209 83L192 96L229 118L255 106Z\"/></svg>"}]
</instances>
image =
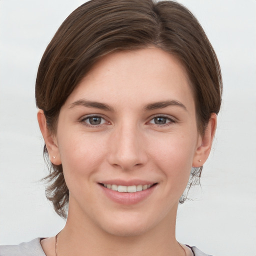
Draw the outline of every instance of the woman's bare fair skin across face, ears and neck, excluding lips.
<instances>
[{"instance_id":1,"label":"woman's bare fair skin across face, ears and neck, excluding lips","mask_svg":"<svg viewBox=\"0 0 256 256\"><path fill-rule=\"evenodd\" d=\"M91 124L91 115L100 123ZM109 54L62 105L54 134L42 110L38 122L70 193L58 255L184 255L175 238L178 199L191 167L208 157L216 115L201 137L191 85L174 56L156 48ZM124 205L99 184L112 179L155 185L143 200ZM41 244L55 255L54 237Z\"/></svg>"}]
</instances>

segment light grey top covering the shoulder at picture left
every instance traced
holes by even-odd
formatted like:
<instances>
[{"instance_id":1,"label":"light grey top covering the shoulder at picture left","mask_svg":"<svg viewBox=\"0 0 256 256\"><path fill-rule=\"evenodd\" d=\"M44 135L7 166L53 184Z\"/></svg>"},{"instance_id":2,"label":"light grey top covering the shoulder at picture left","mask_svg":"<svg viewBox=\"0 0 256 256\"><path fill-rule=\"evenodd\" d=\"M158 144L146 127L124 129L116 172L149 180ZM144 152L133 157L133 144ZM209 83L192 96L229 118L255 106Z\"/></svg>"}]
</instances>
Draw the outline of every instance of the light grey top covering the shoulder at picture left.
<instances>
[{"instance_id":1,"label":"light grey top covering the shoulder at picture left","mask_svg":"<svg viewBox=\"0 0 256 256\"><path fill-rule=\"evenodd\" d=\"M40 238L18 245L0 245L0 256L45 256Z\"/></svg>"}]
</instances>

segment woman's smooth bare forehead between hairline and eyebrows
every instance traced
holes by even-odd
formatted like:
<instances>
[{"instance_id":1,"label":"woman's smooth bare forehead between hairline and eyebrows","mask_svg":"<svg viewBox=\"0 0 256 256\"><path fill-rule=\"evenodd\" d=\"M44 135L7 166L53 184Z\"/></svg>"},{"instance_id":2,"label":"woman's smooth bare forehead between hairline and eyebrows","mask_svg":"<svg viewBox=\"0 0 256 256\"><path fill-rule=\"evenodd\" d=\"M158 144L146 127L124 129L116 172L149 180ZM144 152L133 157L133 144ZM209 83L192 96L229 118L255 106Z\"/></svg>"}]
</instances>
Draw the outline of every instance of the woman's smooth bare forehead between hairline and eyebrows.
<instances>
[{"instance_id":1,"label":"woman's smooth bare forehead between hairline and eyebrows","mask_svg":"<svg viewBox=\"0 0 256 256\"><path fill-rule=\"evenodd\" d=\"M102 57L67 98L79 100L141 102L191 101L187 72L173 55L157 48L120 51Z\"/></svg>"}]
</instances>

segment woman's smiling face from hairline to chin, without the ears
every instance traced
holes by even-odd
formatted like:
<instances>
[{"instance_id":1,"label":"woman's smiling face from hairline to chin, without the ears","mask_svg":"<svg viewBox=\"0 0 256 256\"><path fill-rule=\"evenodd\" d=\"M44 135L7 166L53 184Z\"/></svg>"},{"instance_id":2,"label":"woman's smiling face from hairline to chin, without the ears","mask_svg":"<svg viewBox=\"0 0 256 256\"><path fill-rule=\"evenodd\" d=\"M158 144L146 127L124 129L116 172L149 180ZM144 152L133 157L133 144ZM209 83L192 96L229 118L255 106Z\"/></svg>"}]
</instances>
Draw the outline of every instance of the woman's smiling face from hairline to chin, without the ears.
<instances>
[{"instance_id":1,"label":"woman's smiling face from hairline to chin, without the ears","mask_svg":"<svg viewBox=\"0 0 256 256\"><path fill-rule=\"evenodd\" d=\"M199 160L192 95L183 66L160 49L98 61L61 107L54 137L68 218L117 235L169 225Z\"/></svg>"}]
</instances>

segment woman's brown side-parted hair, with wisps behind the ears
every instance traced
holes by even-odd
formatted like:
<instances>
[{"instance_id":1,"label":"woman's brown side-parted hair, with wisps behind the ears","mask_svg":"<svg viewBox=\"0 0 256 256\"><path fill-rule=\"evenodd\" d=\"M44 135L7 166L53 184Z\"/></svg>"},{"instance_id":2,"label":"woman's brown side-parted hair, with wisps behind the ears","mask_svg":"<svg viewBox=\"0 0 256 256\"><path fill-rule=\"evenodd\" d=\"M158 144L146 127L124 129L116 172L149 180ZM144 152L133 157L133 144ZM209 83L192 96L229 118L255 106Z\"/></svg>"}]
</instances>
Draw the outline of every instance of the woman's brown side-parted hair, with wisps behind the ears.
<instances>
[{"instance_id":1,"label":"woman's brown side-parted hair, with wisps behind the ears","mask_svg":"<svg viewBox=\"0 0 256 256\"><path fill-rule=\"evenodd\" d=\"M35 83L36 104L44 111L49 130L54 134L60 107L97 60L114 51L148 46L161 48L183 63L194 92L198 131L203 134L210 114L220 108L217 57L189 10L177 2L153 0L91 0L63 21L42 56ZM65 216L68 188L62 165L48 163L46 196ZM193 169L191 175L200 177L201 169Z\"/></svg>"}]
</instances>

